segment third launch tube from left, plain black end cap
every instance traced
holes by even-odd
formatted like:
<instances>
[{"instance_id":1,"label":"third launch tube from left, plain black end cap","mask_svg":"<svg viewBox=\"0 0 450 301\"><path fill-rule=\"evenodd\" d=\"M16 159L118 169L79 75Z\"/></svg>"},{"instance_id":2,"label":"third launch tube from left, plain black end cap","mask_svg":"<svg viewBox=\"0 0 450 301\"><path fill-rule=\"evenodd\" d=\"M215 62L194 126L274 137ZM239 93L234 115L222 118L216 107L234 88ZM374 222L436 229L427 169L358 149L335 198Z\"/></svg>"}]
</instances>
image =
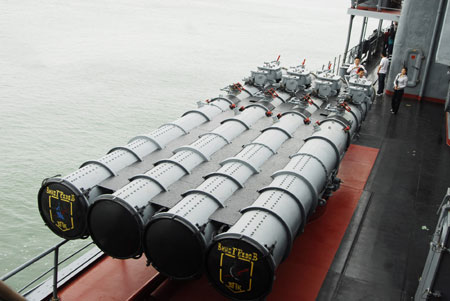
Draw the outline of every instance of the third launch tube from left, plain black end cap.
<instances>
[{"instance_id":1,"label":"third launch tube from left, plain black end cap","mask_svg":"<svg viewBox=\"0 0 450 301\"><path fill-rule=\"evenodd\" d=\"M310 108L316 110L315 106ZM175 279L198 275L214 232L214 226L208 222L211 214L258 173L306 118L296 111L286 112L235 157L224 160L217 172L205 176L200 186L184 193L172 209L156 214L144 232L145 254L153 266Z\"/></svg>"}]
</instances>

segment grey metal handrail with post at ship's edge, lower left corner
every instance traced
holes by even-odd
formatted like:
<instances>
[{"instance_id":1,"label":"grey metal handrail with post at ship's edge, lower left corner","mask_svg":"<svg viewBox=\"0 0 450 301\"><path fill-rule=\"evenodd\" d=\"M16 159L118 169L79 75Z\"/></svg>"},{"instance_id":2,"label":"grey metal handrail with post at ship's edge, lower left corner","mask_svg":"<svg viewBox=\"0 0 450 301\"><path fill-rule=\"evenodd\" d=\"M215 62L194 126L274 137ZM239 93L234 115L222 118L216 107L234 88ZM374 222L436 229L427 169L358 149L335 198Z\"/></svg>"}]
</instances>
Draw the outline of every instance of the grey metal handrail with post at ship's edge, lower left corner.
<instances>
[{"instance_id":1,"label":"grey metal handrail with post at ship's edge, lower left corner","mask_svg":"<svg viewBox=\"0 0 450 301\"><path fill-rule=\"evenodd\" d=\"M36 282L38 282L40 279L42 279L45 275L47 275L48 273L50 273L51 271L53 271L53 292L52 292L52 300L59 300L58 298L58 267L65 263L66 261L68 261L69 259L71 259L72 257L74 257L75 255L79 254L80 252L82 252L83 250L85 250L86 248L88 248L89 246L91 246L93 244L93 242L88 243L87 245L85 245L84 247L80 248L79 250L75 251L74 253L70 254L69 256L67 256L66 258L64 258L61 262L59 262L59 249L61 246L63 246L64 244L66 244L68 242L68 240L63 240L61 242L59 242L58 244L56 244L55 246L51 247L50 249L42 252L41 254L37 255L36 257L28 260L27 262L25 262L24 264L20 265L19 267L15 268L14 270L8 272L7 274L3 275L2 277L0 277L1 281L6 281L9 278L15 276L16 274L18 274L19 272L25 270L26 268L30 267L31 265L33 265L34 263L38 262L39 260L41 260L42 258L46 257L47 255L49 255L50 253L54 253L54 257L53 257L53 267L51 267L50 269L48 269L47 271L45 271L44 273L40 274L38 277L34 278L32 281L30 281L29 283L27 283L24 287L22 287L20 290L18 290L18 293L22 293L23 291L25 291L27 288L29 288L30 286L32 286L33 284L35 284ZM95 254L93 257L97 256L98 254ZM92 257L92 258L93 258ZM91 258L91 259L92 259ZM71 272L73 273L73 271ZM70 273L70 274L71 274ZM67 276L69 276L70 274L66 275L63 279L60 279L60 281L64 280ZM34 289L36 289L36 287L34 287L33 289L31 289L30 291L28 291L26 294L30 293L31 291L33 291Z\"/></svg>"}]
</instances>

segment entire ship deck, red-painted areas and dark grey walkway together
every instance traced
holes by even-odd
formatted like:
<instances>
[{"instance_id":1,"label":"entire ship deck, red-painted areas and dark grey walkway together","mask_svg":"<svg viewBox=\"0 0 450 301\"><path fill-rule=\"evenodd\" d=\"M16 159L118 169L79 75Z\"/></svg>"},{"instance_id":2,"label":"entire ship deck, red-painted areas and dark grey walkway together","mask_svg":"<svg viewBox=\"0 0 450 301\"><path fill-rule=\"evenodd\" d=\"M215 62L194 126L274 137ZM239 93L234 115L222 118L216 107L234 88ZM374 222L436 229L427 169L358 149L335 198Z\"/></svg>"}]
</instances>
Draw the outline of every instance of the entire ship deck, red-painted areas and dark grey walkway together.
<instances>
[{"instance_id":1,"label":"entire ship deck, red-painted areas and dark grey walkway together","mask_svg":"<svg viewBox=\"0 0 450 301\"><path fill-rule=\"evenodd\" d=\"M390 96L377 97L342 162L341 189L296 240L268 300L414 296L436 211L450 186L450 148L441 104L404 99L397 115L389 109ZM59 295L64 300L225 300L205 277L173 281L144 263L103 257Z\"/></svg>"}]
</instances>

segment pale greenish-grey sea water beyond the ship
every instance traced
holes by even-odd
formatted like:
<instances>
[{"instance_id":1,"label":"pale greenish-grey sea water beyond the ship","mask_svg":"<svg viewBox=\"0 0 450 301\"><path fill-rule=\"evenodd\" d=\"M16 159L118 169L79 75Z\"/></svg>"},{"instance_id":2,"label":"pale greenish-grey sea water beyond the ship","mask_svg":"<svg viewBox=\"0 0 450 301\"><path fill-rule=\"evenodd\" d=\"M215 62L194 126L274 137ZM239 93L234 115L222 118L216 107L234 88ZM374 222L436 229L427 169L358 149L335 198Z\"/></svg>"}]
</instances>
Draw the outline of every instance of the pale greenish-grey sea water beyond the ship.
<instances>
[{"instance_id":1,"label":"pale greenish-grey sea water beyond the ship","mask_svg":"<svg viewBox=\"0 0 450 301\"><path fill-rule=\"evenodd\" d=\"M278 55L286 67L306 58L310 69L322 68L343 53L349 6L1 1L0 275L61 241L37 209L44 178L175 120ZM356 18L351 45L360 27ZM369 23L367 35L376 27ZM8 283L18 287L23 277Z\"/></svg>"}]
</instances>

